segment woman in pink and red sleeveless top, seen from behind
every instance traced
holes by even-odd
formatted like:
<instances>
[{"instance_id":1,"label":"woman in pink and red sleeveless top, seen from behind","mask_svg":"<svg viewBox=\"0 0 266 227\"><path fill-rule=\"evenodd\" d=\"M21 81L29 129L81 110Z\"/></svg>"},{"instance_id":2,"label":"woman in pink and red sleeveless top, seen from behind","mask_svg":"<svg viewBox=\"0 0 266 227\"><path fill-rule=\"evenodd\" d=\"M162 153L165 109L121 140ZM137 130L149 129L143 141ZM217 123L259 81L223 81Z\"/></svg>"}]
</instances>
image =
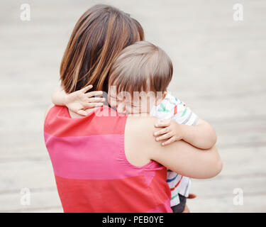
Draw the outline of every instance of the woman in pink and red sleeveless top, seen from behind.
<instances>
[{"instance_id":1,"label":"woman in pink and red sleeveless top, seen from behind","mask_svg":"<svg viewBox=\"0 0 266 227\"><path fill-rule=\"evenodd\" d=\"M86 11L62 59L65 92L88 84L107 92L114 58L139 40L143 29L128 14L105 5ZM172 212L166 167L193 178L221 171L216 148L202 151L183 141L162 148L153 138L155 121L118 116L108 106L86 117L53 106L45 118L45 143L64 211Z\"/></svg>"}]
</instances>

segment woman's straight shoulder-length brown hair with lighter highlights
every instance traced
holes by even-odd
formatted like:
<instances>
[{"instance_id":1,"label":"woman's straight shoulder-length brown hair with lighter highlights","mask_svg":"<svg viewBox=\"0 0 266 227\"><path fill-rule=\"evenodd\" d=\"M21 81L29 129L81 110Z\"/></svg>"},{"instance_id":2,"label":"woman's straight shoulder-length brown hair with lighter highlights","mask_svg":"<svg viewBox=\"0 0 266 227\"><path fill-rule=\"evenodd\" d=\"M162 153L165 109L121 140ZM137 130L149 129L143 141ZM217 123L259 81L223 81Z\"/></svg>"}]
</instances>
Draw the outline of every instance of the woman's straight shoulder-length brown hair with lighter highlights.
<instances>
[{"instance_id":1,"label":"woman's straight shoulder-length brown hair with lighter highlights","mask_svg":"<svg viewBox=\"0 0 266 227\"><path fill-rule=\"evenodd\" d=\"M60 65L65 92L89 84L93 90L108 91L109 70L116 56L144 39L140 23L112 6L96 5L77 21Z\"/></svg>"}]
</instances>

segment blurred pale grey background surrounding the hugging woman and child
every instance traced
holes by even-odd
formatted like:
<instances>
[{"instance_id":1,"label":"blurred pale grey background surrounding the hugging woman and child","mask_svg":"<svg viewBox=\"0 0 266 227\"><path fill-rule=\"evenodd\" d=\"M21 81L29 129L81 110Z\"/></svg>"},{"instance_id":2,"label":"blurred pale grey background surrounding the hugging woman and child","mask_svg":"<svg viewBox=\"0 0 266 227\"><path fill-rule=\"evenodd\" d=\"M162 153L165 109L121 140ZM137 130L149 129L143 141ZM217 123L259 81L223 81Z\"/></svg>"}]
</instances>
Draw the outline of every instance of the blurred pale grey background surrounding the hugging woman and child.
<instances>
[{"instance_id":1,"label":"blurred pale grey background surrounding the hugging woman and child","mask_svg":"<svg viewBox=\"0 0 266 227\"><path fill-rule=\"evenodd\" d=\"M265 0L1 0L0 212L62 212L43 120L74 24L94 4L141 23L172 58L172 94L216 129L223 171L192 180L189 209L266 212Z\"/></svg>"}]
</instances>

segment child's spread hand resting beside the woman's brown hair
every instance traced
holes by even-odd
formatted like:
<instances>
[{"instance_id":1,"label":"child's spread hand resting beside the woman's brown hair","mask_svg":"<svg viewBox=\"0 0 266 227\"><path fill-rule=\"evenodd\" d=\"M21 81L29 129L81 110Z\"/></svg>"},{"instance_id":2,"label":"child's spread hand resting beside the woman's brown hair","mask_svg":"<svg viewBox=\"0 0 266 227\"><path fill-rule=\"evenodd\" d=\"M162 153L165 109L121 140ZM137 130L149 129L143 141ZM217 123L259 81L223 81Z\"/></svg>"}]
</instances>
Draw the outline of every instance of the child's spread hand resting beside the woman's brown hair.
<instances>
[{"instance_id":1,"label":"child's spread hand resting beside the woman's brown hair","mask_svg":"<svg viewBox=\"0 0 266 227\"><path fill-rule=\"evenodd\" d=\"M92 85L84 87L77 92L67 94L65 106L76 114L87 116L87 109L92 109L97 106L103 106L105 99L102 97L94 97L96 95L102 95L103 92L95 91L88 92L92 89Z\"/></svg>"}]
</instances>

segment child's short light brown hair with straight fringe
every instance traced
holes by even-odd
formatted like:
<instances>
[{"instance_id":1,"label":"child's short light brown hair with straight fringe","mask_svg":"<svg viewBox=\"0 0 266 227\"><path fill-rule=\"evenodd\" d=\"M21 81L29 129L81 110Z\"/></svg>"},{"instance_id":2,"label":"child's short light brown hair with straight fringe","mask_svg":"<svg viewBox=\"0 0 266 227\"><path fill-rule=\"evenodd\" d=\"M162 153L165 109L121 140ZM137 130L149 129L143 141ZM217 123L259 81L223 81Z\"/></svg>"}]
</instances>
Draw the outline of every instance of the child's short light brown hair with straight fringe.
<instances>
[{"instance_id":1,"label":"child's short light brown hair with straight fringe","mask_svg":"<svg viewBox=\"0 0 266 227\"><path fill-rule=\"evenodd\" d=\"M120 92L165 92L172 79L172 61L161 48L140 41L124 48L111 66L109 86Z\"/></svg>"}]
</instances>

